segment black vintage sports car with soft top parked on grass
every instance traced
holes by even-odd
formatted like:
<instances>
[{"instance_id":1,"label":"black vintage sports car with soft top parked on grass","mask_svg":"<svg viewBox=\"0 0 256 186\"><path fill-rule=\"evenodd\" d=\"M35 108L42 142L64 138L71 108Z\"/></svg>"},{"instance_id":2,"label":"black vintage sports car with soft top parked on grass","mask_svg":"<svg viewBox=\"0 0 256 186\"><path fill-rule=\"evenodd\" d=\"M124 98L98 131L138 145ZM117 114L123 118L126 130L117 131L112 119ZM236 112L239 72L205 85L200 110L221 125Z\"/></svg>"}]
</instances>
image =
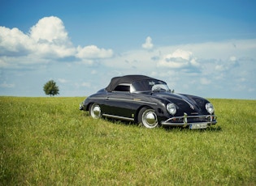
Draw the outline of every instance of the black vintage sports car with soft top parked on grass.
<instances>
[{"instance_id":1,"label":"black vintage sports car with soft top parked on grass","mask_svg":"<svg viewBox=\"0 0 256 186\"><path fill-rule=\"evenodd\" d=\"M215 109L206 99L173 93L167 83L144 75L126 75L80 104L90 116L129 120L155 128L159 125L205 129L217 123Z\"/></svg>"}]
</instances>

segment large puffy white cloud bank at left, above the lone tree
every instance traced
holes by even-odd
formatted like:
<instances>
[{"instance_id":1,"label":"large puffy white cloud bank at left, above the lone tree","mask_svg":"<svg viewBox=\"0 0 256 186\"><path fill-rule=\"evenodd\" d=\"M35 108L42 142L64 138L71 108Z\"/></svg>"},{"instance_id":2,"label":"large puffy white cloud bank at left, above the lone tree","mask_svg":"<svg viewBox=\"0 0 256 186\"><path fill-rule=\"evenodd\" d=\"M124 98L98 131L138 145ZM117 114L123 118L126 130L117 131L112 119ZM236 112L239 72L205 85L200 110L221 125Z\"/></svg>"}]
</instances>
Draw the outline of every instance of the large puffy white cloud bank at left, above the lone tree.
<instances>
[{"instance_id":1,"label":"large puffy white cloud bank at left, above the lone tree","mask_svg":"<svg viewBox=\"0 0 256 186\"><path fill-rule=\"evenodd\" d=\"M95 45L74 47L63 21L55 16L40 19L28 34L16 27L0 27L0 67L61 61L67 57L86 61L112 55L111 49L99 49ZM13 57L20 59L13 61Z\"/></svg>"}]
</instances>

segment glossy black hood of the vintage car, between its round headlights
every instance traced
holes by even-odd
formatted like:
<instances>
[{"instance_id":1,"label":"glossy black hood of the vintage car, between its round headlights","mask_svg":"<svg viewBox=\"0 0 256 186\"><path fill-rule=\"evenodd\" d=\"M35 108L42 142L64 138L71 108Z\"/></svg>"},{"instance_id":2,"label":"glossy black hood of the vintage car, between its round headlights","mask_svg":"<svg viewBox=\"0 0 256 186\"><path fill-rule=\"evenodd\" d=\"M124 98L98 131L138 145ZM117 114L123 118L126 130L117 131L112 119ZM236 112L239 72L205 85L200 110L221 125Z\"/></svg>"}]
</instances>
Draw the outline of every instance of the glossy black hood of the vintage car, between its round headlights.
<instances>
[{"instance_id":1,"label":"glossy black hood of the vintage car, between its round headlights","mask_svg":"<svg viewBox=\"0 0 256 186\"><path fill-rule=\"evenodd\" d=\"M206 99L201 97L197 97L194 95L183 95L176 94L171 92L156 92L153 93L153 96L161 97L163 99L167 99L173 104L176 104L178 110L189 112L188 114L207 114L206 111ZM182 114L182 113L180 113Z\"/></svg>"}]
</instances>

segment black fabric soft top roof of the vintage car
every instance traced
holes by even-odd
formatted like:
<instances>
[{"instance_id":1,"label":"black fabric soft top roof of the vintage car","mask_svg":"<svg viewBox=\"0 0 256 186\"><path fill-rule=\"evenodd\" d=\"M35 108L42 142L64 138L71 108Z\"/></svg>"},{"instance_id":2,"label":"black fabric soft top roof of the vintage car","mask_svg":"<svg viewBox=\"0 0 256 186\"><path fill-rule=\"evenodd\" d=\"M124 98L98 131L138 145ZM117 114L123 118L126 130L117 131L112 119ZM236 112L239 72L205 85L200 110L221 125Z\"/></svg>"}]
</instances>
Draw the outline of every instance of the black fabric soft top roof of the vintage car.
<instances>
[{"instance_id":1,"label":"black fabric soft top roof of the vintage car","mask_svg":"<svg viewBox=\"0 0 256 186\"><path fill-rule=\"evenodd\" d=\"M106 91L114 91L115 87L118 86L120 83L132 83L132 82L137 82L139 80L145 80L145 79L155 79L155 78L150 78L145 75L125 75L125 76L115 77L111 79L110 84L106 87Z\"/></svg>"}]
</instances>

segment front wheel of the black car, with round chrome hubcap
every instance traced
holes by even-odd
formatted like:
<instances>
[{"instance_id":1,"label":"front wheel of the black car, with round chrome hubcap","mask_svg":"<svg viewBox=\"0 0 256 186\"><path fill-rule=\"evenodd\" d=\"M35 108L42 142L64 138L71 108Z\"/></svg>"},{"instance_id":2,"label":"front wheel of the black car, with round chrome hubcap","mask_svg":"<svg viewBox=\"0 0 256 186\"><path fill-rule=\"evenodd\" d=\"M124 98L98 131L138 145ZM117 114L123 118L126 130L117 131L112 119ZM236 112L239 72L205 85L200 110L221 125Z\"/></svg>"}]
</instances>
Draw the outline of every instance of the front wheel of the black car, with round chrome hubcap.
<instances>
[{"instance_id":1,"label":"front wheel of the black car, with round chrome hubcap","mask_svg":"<svg viewBox=\"0 0 256 186\"><path fill-rule=\"evenodd\" d=\"M145 128L153 129L158 127L158 116L151 108L141 108L138 114L138 123Z\"/></svg>"}]
</instances>

